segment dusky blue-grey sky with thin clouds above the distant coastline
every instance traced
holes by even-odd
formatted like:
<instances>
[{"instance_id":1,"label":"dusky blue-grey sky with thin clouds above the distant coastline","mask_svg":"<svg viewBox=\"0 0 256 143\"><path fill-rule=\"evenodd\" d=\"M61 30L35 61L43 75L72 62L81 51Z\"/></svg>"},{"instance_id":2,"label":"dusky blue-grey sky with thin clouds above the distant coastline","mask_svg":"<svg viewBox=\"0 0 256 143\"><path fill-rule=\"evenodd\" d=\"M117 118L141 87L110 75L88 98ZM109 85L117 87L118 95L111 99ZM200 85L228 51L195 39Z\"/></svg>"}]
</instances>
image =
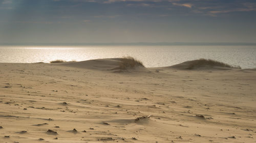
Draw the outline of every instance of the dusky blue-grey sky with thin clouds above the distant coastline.
<instances>
[{"instance_id":1,"label":"dusky blue-grey sky with thin clouds above the distant coastline","mask_svg":"<svg viewBox=\"0 0 256 143\"><path fill-rule=\"evenodd\" d=\"M0 0L0 44L255 43L255 25L255 0Z\"/></svg>"}]
</instances>

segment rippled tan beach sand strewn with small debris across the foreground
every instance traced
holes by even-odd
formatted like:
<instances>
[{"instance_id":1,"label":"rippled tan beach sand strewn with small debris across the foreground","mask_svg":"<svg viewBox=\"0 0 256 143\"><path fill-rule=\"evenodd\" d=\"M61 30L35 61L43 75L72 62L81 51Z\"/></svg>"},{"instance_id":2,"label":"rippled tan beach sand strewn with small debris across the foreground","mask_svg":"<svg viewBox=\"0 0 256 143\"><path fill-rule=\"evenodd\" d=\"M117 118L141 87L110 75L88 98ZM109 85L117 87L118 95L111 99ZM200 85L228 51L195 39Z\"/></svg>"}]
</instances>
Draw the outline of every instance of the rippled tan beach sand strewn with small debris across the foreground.
<instances>
[{"instance_id":1,"label":"rippled tan beach sand strewn with small debris across the foreground","mask_svg":"<svg viewBox=\"0 0 256 143\"><path fill-rule=\"evenodd\" d=\"M0 63L0 142L256 142L256 70Z\"/></svg>"}]
</instances>

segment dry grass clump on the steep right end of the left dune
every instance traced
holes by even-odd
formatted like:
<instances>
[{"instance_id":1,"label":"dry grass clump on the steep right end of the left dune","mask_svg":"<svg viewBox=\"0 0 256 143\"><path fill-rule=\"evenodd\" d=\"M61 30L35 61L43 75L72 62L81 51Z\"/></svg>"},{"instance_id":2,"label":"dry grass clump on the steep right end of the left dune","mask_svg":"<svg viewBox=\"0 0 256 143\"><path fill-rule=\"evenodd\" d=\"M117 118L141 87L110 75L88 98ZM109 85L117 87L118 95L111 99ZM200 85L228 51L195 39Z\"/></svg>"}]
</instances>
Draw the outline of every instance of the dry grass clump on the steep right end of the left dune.
<instances>
[{"instance_id":1,"label":"dry grass clump on the steep right end of the left dune","mask_svg":"<svg viewBox=\"0 0 256 143\"><path fill-rule=\"evenodd\" d=\"M124 56L121 59L119 64L119 68L125 70L127 68L135 68L135 67L145 67L142 62L134 59L132 56Z\"/></svg>"}]
</instances>

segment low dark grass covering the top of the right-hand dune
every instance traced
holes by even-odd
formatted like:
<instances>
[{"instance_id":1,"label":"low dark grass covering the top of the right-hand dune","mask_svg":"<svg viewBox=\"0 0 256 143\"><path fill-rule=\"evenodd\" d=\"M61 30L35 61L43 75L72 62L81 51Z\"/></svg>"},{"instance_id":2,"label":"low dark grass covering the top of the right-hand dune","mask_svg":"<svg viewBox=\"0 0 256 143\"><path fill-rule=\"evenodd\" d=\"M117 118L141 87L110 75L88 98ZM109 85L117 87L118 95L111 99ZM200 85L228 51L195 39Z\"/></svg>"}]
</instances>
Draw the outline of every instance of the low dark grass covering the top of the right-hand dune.
<instances>
[{"instance_id":1,"label":"low dark grass covering the top of the right-hand dune","mask_svg":"<svg viewBox=\"0 0 256 143\"><path fill-rule=\"evenodd\" d=\"M191 62L188 66L187 69L194 69L195 67L201 67L201 66L218 66L218 67L225 67L225 68L236 68L236 69L241 69L240 66L231 66L222 62L218 62L215 60L210 60L210 59L199 59Z\"/></svg>"}]
</instances>

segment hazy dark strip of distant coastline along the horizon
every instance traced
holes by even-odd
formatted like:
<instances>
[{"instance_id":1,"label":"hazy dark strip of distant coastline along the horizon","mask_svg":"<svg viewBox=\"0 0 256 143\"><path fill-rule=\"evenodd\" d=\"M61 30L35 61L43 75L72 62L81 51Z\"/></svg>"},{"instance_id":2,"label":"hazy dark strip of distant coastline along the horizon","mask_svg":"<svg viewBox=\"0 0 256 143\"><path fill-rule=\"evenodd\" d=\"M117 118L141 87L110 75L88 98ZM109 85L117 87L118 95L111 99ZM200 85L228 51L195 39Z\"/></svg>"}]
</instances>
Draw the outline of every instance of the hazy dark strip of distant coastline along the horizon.
<instances>
[{"instance_id":1,"label":"hazy dark strip of distant coastline along the horizon","mask_svg":"<svg viewBox=\"0 0 256 143\"><path fill-rule=\"evenodd\" d=\"M33 46L33 45L61 45L61 46L83 46L83 45L103 45L103 46L131 46L131 45L145 45L145 46L254 46L256 43L246 43L246 42L134 42L134 43L0 43L1 46Z\"/></svg>"}]
</instances>

